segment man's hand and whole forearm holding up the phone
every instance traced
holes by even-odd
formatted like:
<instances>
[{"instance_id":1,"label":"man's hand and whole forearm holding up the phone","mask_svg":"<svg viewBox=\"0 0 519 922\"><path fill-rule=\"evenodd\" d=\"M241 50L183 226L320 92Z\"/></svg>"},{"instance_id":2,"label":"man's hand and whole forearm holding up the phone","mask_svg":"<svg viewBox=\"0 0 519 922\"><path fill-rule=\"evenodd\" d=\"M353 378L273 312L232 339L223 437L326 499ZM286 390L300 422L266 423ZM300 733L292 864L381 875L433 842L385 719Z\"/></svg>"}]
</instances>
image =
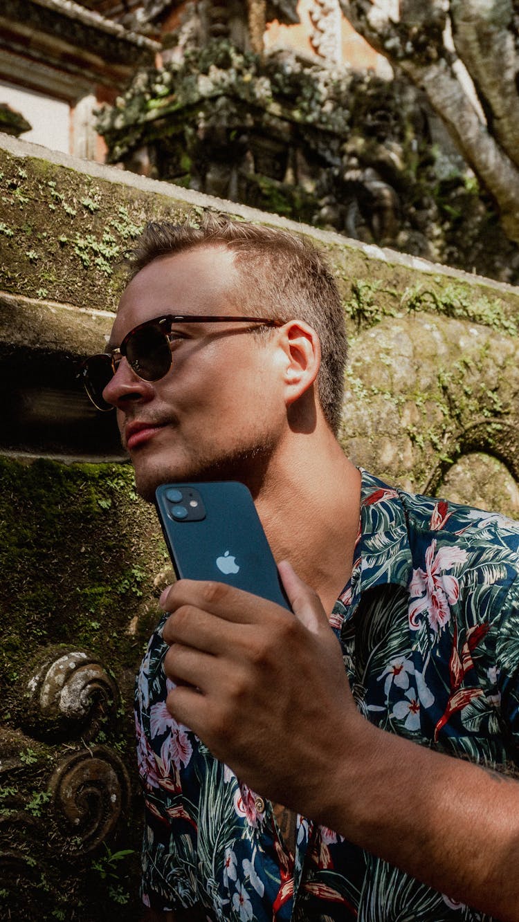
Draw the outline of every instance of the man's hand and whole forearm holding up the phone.
<instances>
[{"instance_id":1,"label":"man's hand and whole forearm holding up the phone","mask_svg":"<svg viewBox=\"0 0 519 922\"><path fill-rule=\"evenodd\" d=\"M519 922L519 783L365 720L319 598L279 571L293 615L219 583L164 591L171 715L258 794Z\"/></svg>"}]
</instances>

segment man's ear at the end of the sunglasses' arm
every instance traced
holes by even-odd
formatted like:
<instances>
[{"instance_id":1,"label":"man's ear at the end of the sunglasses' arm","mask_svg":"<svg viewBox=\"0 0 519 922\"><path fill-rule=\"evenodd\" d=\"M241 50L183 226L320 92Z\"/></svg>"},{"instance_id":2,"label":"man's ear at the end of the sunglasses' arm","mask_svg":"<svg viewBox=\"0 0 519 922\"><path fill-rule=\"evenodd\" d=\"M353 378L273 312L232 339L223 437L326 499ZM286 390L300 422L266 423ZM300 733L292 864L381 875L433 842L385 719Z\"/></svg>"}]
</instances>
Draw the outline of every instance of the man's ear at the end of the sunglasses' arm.
<instances>
[{"instance_id":1,"label":"man's ear at the end of the sunglasses' arm","mask_svg":"<svg viewBox=\"0 0 519 922\"><path fill-rule=\"evenodd\" d=\"M313 385L321 365L321 344L312 326L290 320L280 329L286 403L290 407Z\"/></svg>"}]
</instances>

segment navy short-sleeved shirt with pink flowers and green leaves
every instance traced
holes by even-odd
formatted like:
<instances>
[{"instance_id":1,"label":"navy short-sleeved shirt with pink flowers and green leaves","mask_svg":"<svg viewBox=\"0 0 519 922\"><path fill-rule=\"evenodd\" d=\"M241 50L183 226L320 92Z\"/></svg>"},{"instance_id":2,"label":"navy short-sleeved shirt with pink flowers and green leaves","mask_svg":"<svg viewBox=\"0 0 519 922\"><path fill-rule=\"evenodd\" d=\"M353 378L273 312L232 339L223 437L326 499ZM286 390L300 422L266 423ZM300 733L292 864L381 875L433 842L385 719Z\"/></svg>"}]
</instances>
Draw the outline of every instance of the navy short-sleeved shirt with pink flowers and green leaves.
<instances>
[{"instance_id":1,"label":"navy short-sleeved shirt with pink flowers and green leaves","mask_svg":"<svg viewBox=\"0 0 519 922\"><path fill-rule=\"evenodd\" d=\"M330 623L367 720L473 762L519 765L518 561L519 523L362 472L353 571ZM145 904L236 922L490 918L301 816L292 854L272 805L168 714L164 621L136 686Z\"/></svg>"}]
</instances>

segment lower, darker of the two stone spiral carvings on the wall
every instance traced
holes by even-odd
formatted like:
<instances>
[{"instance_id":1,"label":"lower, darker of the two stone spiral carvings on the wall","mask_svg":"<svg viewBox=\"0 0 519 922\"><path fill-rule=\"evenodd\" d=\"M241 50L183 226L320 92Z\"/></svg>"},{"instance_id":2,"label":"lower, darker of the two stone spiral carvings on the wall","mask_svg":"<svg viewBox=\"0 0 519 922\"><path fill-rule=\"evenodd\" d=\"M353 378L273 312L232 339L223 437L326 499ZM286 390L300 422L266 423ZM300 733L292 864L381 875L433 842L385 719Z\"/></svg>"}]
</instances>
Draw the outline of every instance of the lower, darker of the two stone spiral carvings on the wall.
<instances>
[{"instance_id":1,"label":"lower, darker of the two stone spiral carvings on the wall","mask_svg":"<svg viewBox=\"0 0 519 922\"><path fill-rule=\"evenodd\" d=\"M130 797L130 780L121 759L106 746L66 757L49 781L53 811L71 852L93 851L116 826Z\"/></svg>"}]
</instances>

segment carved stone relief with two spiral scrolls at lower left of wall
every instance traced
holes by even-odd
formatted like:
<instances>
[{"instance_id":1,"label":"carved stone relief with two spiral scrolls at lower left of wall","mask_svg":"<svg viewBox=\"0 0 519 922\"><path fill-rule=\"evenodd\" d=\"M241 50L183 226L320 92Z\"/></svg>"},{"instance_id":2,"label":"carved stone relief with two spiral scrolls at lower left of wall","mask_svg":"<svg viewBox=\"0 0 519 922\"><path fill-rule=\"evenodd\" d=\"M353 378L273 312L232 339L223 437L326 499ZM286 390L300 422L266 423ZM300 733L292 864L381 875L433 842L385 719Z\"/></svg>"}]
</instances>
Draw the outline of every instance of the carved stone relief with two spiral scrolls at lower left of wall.
<instances>
[{"instance_id":1,"label":"carved stone relief with two spiral scrolls at lower left of wall","mask_svg":"<svg viewBox=\"0 0 519 922\"><path fill-rule=\"evenodd\" d=\"M51 918L66 902L67 875L71 893L85 885L91 856L114 841L129 808L123 759L109 744L88 743L101 719L110 737L120 694L98 660L61 647L41 651L16 699L23 732L0 735L0 906L8 916L0 915L27 919L38 905ZM75 918L90 918L74 908Z\"/></svg>"}]
</instances>

